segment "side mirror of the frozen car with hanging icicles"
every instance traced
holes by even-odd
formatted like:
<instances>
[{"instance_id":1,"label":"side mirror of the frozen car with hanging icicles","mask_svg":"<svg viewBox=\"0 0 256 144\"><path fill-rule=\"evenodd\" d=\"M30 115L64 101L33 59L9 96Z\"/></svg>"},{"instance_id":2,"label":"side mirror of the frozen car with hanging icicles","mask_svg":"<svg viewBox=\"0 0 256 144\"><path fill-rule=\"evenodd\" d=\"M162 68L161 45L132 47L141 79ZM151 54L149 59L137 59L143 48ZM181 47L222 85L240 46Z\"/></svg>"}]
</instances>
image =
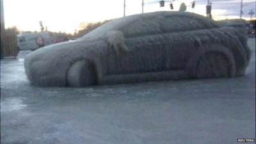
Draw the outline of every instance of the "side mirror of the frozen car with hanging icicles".
<instances>
[{"instance_id":1,"label":"side mirror of the frozen car with hanging icicles","mask_svg":"<svg viewBox=\"0 0 256 144\"><path fill-rule=\"evenodd\" d=\"M124 44L125 38L122 31L108 31L107 33L108 46L112 47L117 55L124 54L130 50Z\"/></svg>"}]
</instances>

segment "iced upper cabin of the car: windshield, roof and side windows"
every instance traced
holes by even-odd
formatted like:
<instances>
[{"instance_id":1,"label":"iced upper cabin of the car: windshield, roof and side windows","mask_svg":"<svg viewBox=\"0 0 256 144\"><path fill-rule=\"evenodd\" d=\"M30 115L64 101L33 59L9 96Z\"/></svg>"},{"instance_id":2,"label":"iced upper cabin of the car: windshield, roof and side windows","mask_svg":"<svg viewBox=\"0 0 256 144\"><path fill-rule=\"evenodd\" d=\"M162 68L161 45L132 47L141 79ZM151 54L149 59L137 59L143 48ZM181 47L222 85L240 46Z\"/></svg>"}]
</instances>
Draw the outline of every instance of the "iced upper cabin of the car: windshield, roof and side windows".
<instances>
[{"instance_id":1,"label":"iced upper cabin of the car: windshield, roof and side windows","mask_svg":"<svg viewBox=\"0 0 256 144\"><path fill-rule=\"evenodd\" d=\"M152 12L129 15L114 19L81 37L81 39L95 39L105 36L108 31L122 31L124 35L140 32L164 33L168 31L188 31L205 28L218 28L219 25L202 15L189 12Z\"/></svg>"}]
</instances>

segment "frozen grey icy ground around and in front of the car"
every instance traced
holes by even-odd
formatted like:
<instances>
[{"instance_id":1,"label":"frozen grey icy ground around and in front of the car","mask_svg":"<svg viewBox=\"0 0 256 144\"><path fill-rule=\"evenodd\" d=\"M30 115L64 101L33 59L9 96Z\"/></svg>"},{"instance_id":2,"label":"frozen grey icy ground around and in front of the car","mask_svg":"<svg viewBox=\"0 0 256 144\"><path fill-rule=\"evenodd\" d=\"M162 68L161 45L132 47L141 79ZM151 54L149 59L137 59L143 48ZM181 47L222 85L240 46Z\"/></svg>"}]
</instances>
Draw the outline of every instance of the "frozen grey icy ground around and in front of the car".
<instances>
[{"instance_id":1,"label":"frozen grey icy ground around and in front of the car","mask_svg":"<svg viewBox=\"0 0 256 144\"><path fill-rule=\"evenodd\" d=\"M1 143L217 144L255 138L255 38L246 77L88 88L29 85L1 61ZM27 52L28 53L28 52Z\"/></svg>"}]
</instances>

